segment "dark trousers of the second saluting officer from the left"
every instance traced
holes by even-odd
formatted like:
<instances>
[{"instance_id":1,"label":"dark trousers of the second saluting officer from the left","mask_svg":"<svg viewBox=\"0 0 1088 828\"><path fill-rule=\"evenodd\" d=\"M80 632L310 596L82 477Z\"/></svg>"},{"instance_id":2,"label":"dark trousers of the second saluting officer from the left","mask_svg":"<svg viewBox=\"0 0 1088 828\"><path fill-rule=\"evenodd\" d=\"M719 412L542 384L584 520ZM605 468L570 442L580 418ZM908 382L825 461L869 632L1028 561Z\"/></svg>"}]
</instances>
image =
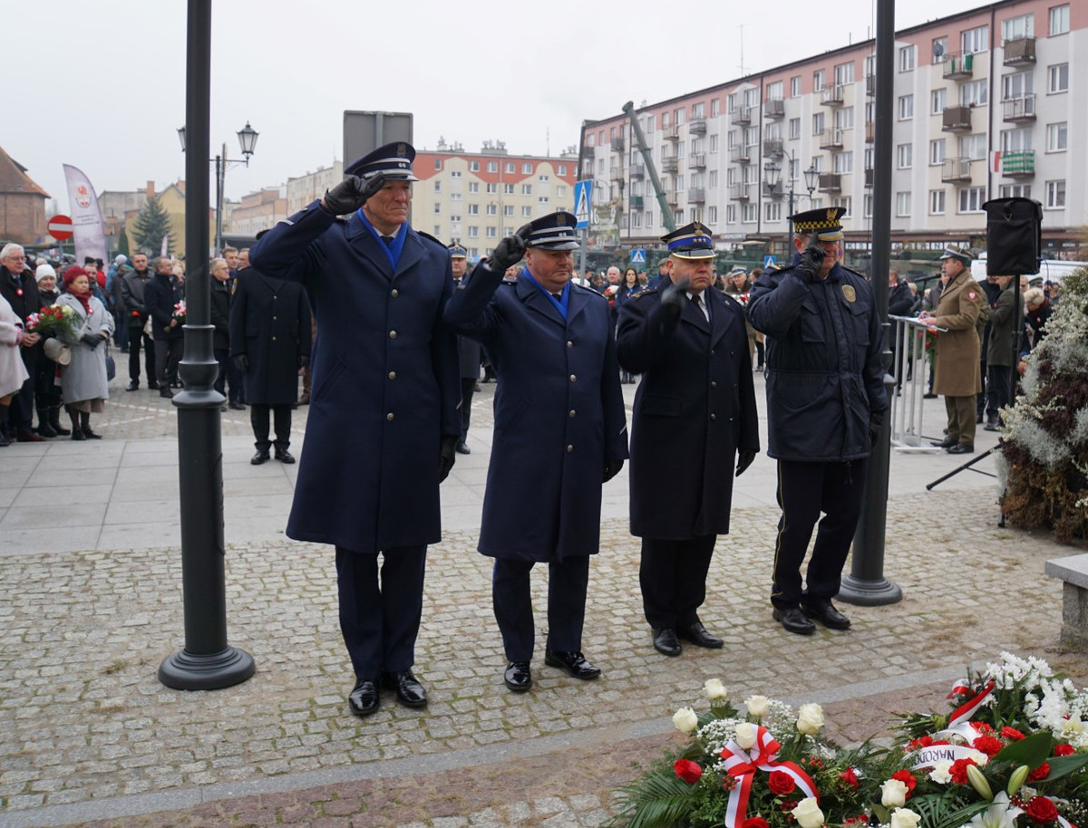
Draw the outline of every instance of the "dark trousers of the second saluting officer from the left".
<instances>
[{"instance_id":1,"label":"dark trousers of the second saluting officer from the left","mask_svg":"<svg viewBox=\"0 0 1088 828\"><path fill-rule=\"evenodd\" d=\"M506 660L528 662L533 657L535 629L529 574L532 561L495 559L492 602L495 620L503 633ZM548 564L547 644L548 650L578 652L582 649L585 620L585 591L590 581L590 557L570 557Z\"/></svg>"}]
</instances>

